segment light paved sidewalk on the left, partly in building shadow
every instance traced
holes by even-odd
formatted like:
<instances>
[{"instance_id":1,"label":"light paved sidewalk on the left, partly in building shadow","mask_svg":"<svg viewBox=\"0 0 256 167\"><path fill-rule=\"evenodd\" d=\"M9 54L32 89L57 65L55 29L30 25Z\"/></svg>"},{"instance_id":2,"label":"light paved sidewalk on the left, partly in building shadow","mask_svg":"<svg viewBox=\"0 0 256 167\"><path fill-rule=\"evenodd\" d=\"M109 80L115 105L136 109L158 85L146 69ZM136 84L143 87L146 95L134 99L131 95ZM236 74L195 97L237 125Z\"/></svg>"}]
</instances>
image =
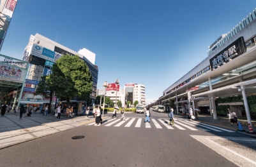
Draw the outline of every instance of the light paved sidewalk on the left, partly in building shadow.
<instances>
[{"instance_id":1,"label":"light paved sidewalk on the left, partly in building shadow","mask_svg":"<svg viewBox=\"0 0 256 167\"><path fill-rule=\"evenodd\" d=\"M87 119L86 116L68 118L61 113L61 119L56 119L53 114L48 114L48 117L42 115L40 112L31 114L31 117L25 117L23 114L20 119L19 112L17 114L13 114L13 111L6 112L3 117L0 117L0 149L94 121L93 116Z\"/></svg>"}]
</instances>

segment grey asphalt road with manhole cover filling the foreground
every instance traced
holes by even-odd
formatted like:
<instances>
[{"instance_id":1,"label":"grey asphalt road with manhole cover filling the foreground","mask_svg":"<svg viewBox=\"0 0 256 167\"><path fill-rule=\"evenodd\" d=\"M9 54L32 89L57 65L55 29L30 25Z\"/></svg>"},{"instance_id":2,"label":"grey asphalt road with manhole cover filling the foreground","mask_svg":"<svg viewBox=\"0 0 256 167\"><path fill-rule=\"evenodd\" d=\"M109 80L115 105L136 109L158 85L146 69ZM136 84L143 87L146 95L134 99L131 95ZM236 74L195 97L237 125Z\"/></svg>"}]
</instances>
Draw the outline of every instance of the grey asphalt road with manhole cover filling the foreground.
<instances>
[{"instance_id":1,"label":"grey asphalt road with manhole cover filling the foreground","mask_svg":"<svg viewBox=\"0 0 256 167\"><path fill-rule=\"evenodd\" d=\"M117 114L120 116L120 114ZM167 114L151 111L151 128L146 128L143 122L144 114L126 114L129 118L124 124L105 126L116 120L109 119L101 126L84 125L55 135L39 138L23 144L14 145L0 150L0 166L245 166L244 163L233 163L235 153L222 151L220 145L226 148L236 142L232 138L246 138L240 133L225 131L169 130L160 124ZM130 127L124 127L135 118ZM135 128L137 120L142 118L140 128ZM153 123L156 120L161 128ZM111 120L111 121L110 121ZM181 119L180 119L181 120ZM178 120L179 121L179 118ZM181 123L181 121L179 121ZM176 124L178 125L178 124ZM202 128L204 129L204 128ZM72 137L84 135L85 138L73 140ZM224 139L222 138L224 137ZM229 137L225 140L225 137ZM221 140L222 139L222 140ZM221 140L223 144L218 142ZM213 142L212 142L213 141ZM240 140L239 140L240 141ZM213 143L211 146L209 143ZM252 138L254 145L254 139ZM241 149L255 155L256 148L244 143ZM249 148L250 147L250 148ZM233 147L229 147L232 149ZM239 148L237 148L239 149ZM239 152L239 150L234 150ZM239 153L241 154L241 152ZM236 155L235 155L236 156ZM240 156L241 157L241 156ZM242 157L241 157L242 158ZM237 159L237 158L235 158ZM253 157L248 157L253 159ZM245 159L244 159L245 160ZM248 161L248 160L247 160ZM255 161L255 159L254 159ZM253 162L254 162L253 161ZM250 162L253 164L253 162ZM252 166L252 164L250 164Z\"/></svg>"}]
</instances>

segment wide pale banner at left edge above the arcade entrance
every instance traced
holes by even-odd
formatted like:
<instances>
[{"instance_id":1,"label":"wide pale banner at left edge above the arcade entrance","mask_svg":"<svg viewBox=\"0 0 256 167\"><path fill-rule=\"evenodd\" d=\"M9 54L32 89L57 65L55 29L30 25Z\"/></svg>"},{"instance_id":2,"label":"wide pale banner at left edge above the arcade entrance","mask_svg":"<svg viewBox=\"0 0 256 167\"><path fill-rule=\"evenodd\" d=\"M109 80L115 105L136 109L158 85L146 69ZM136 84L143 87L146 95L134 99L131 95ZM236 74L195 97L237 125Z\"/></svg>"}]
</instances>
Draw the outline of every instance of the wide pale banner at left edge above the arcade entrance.
<instances>
[{"instance_id":1,"label":"wide pale banner at left edge above the arcade entrance","mask_svg":"<svg viewBox=\"0 0 256 167\"><path fill-rule=\"evenodd\" d=\"M8 65L0 65L0 79L20 81L22 70Z\"/></svg>"}]
</instances>

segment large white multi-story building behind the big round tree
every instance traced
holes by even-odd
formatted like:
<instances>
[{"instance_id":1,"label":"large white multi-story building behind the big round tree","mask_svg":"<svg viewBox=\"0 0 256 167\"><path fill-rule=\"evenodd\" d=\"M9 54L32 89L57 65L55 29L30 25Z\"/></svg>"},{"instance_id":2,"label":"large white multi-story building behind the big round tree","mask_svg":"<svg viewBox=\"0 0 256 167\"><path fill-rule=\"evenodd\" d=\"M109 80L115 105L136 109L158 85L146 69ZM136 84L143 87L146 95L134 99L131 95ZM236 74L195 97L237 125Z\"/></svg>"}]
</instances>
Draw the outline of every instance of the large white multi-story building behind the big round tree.
<instances>
[{"instance_id":1,"label":"large white multi-story building behind the big round tree","mask_svg":"<svg viewBox=\"0 0 256 167\"><path fill-rule=\"evenodd\" d=\"M91 76L93 77L93 90L90 98L96 98L96 89L98 83L98 66L94 64L95 54L85 48L76 52L70 48L66 48L47 37L36 34L31 35L29 43L24 50L22 60L30 63L29 72L26 80L26 87L24 88L24 97L33 99L43 99L41 96L34 96L36 84L40 81L41 76L47 76L51 73L52 64L58 60L62 55L78 55L81 60L89 67ZM34 104L42 104L38 100L34 100Z\"/></svg>"}]
</instances>

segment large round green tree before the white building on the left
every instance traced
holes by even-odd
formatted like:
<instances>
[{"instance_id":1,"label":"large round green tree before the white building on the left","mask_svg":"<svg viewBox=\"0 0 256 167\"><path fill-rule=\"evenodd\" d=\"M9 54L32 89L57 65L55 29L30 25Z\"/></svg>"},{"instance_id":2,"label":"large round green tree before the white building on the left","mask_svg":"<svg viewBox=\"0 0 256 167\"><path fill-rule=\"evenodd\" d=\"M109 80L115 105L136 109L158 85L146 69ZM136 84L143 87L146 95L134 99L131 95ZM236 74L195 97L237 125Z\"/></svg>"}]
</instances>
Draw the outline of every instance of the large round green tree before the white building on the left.
<instances>
[{"instance_id":1,"label":"large round green tree before the white building on the left","mask_svg":"<svg viewBox=\"0 0 256 167\"><path fill-rule=\"evenodd\" d=\"M63 55L52 65L49 82L59 97L70 102L72 97L88 96L92 91L92 76L84 60L77 55Z\"/></svg>"}]
</instances>

